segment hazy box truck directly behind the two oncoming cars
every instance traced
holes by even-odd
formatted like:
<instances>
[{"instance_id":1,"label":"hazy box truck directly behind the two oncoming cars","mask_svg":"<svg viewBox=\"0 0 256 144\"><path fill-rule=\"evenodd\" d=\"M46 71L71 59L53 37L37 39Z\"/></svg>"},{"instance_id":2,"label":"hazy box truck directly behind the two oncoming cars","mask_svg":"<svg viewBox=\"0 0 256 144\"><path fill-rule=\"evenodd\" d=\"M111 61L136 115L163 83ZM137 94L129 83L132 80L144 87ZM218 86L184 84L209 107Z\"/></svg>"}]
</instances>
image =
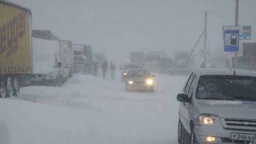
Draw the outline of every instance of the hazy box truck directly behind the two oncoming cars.
<instances>
[{"instance_id":1,"label":"hazy box truck directly behind the two oncoming cars","mask_svg":"<svg viewBox=\"0 0 256 144\"><path fill-rule=\"evenodd\" d=\"M130 52L130 63L137 63L141 68L145 68L146 58L144 52Z\"/></svg>"}]
</instances>

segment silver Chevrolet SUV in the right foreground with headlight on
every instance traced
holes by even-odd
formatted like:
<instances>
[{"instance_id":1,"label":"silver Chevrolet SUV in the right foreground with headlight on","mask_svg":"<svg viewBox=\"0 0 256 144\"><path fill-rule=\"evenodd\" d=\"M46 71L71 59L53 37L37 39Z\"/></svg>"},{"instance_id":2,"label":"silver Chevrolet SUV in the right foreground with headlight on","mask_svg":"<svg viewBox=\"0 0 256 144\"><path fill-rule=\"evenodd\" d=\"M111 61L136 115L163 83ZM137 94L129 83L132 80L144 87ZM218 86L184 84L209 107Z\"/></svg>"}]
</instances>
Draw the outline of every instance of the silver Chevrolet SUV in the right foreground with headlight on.
<instances>
[{"instance_id":1,"label":"silver Chevrolet SUV in the right foreground with headlight on","mask_svg":"<svg viewBox=\"0 0 256 144\"><path fill-rule=\"evenodd\" d=\"M180 144L249 144L256 135L256 72L194 70L180 101Z\"/></svg>"}]
</instances>

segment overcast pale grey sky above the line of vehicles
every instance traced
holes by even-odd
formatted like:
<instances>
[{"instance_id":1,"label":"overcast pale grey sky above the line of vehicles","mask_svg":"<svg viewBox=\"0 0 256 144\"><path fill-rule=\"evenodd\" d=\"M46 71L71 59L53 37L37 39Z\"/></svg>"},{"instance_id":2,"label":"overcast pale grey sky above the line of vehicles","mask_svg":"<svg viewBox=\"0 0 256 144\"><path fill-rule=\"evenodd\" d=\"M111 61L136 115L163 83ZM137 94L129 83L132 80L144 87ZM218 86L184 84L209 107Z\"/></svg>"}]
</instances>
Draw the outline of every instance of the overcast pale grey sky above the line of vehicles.
<instances>
[{"instance_id":1,"label":"overcast pale grey sky above the line of vehicles","mask_svg":"<svg viewBox=\"0 0 256 144\"><path fill-rule=\"evenodd\" d=\"M168 56L191 50L204 29L207 47L222 47L222 26L235 23L235 0L10 0L32 10L33 29L50 30L63 40L92 45L109 60L130 51L163 50ZM256 42L256 0L239 1L239 25L252 25ZM203 48L200 41L197 50Z\"/></svg>"}]
</instances>

